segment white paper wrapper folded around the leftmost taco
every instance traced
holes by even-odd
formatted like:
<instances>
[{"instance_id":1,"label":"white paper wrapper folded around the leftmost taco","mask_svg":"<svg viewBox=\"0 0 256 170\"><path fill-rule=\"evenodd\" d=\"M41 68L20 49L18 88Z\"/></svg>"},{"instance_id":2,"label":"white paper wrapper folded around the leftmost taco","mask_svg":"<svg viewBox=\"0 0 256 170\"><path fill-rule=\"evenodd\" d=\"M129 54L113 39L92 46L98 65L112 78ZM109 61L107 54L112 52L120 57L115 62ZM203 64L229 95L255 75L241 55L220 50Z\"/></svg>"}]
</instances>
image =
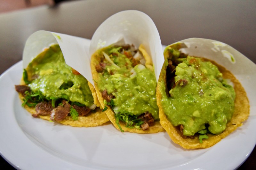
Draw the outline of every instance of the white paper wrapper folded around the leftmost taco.
<instances>
[{"instance_id":1,"label":"white paper wrapper folded around the leftmost taco","mask_svg":"<svg viewBox=\"0 0 256 170\"><path fill-rule=\"evenodd\" d=\"M23 51L23 68L52 44L59 44L66 63L93 84L90 67L90 40L49 31L37 31L30 35Z\"/></svg>"}]
</instances>

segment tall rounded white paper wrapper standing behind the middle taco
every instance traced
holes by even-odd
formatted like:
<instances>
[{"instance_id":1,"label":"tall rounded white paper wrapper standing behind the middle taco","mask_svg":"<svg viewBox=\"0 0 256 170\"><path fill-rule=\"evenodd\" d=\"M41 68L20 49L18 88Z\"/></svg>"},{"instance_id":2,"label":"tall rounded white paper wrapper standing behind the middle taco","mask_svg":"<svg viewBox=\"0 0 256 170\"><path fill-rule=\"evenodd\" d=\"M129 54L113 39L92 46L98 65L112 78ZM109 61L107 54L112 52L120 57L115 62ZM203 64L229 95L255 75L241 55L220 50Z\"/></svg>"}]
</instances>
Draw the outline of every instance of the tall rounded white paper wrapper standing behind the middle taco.
<instances>
[{"instance_id":1,"label":"tall rounded white paper wrapper standing behind the middle taco","mask_svg":"<svg viewBox=\"0 0 256 170\"><path fill-rule=\"evenodd\" d=\"M90 56L98 49L124 39L127 44L143 44L155 66L156 80L160 75L164 55L159 33L152 19L143 12L118 12L106 19L95 31L90 45ZM156 67L161 65L161 67Z\"/></svg>"}]
</instances>

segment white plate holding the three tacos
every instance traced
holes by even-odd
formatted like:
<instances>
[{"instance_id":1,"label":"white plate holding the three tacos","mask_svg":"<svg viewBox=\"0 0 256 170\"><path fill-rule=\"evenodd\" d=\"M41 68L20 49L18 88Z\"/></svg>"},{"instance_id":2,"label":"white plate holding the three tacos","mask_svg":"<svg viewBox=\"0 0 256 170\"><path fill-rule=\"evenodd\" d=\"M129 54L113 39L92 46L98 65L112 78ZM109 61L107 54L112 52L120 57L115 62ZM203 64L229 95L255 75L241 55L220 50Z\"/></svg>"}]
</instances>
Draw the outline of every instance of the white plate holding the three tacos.
<instances>
[{"instance_id":1,"label":"white plate holding the three tacos","mask_svg":"<svg viewBox=\"0 0 256 170\"><path fill-rule=\"evenodd\" d=\"M121 133L112 124L76 128L33 118L14 88L21 75L19 62L0 77L0 152L15 168L235 169L256 143L255 115L211 148L196 150L174 144L166 132Z\"/></svg>"}]
</instances>

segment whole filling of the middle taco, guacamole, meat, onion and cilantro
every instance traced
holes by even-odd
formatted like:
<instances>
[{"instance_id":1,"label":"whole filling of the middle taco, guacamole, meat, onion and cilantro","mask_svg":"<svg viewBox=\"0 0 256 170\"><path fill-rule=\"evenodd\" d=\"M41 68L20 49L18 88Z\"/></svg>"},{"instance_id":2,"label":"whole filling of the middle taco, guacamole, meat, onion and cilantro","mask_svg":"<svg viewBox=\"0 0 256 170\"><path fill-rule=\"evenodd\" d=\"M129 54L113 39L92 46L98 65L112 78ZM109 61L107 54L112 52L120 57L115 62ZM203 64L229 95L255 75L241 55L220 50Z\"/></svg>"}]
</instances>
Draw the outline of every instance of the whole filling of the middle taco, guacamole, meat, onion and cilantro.
<instances>
[{"instance_id":1,"label":"whole filling of the middle taco, guacamole, meat, onion and cilantro","mask_svg":"<svg viewBox=\"0 0 256 170\"><path fill-rule=\"evenodd\" d=\"M103 98L104 93L110 96L104 104L112 106L117 124L123 121L126 127L146 130L141 115L151 115L149 126L152 121L159 120L154 71L145 67L145 58L130 45L111 45L101 49L99 54L96 83Z\"/></svg>"}]
</instances>

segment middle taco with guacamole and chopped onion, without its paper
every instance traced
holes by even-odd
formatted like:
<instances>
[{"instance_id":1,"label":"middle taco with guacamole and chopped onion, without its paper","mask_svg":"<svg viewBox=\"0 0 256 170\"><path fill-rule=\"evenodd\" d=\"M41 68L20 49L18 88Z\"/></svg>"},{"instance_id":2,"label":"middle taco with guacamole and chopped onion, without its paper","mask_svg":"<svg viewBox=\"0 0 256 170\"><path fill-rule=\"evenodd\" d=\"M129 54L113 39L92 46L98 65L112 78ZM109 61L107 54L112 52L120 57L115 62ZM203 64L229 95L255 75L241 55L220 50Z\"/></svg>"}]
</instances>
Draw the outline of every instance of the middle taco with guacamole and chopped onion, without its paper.
<instances>
[{"instance_id":1,"label":"middle taco with guacamole and chopped onion, without its paper","mask_svg":"<svg viewBox=\"0 0 256 170\"><path fill-rule=\"evenodd\" d=\"M91 58L92 75L101 106L122 132L164 131L156 105L156 77L143 45L110 45Z\"/></svg>"}]
</instances>

